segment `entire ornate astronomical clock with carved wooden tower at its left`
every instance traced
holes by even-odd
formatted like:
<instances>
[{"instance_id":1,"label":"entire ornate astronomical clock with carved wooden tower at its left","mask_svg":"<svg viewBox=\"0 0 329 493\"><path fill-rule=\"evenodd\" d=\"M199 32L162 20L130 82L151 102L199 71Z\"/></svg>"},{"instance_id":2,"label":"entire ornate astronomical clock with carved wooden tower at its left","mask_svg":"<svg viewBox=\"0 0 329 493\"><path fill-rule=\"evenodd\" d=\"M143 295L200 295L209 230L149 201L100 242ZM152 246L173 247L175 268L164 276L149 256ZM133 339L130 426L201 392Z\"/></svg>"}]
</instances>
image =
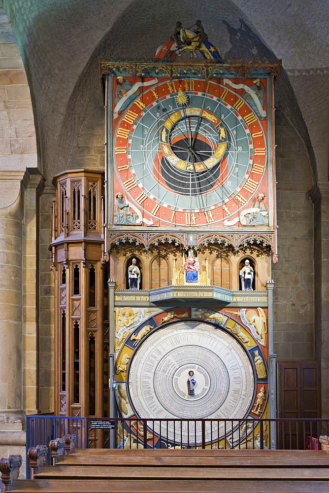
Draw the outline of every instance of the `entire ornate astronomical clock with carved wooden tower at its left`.
<instances>
[{"instance_id":1,"label":"entire ornate astronomical clock with carved wooden tower at its left","mask_svg":"<svg viewBox=\"0 0 329 493\"><path fill-rule=\"evenodd\" d=\"M99 71L105 180L54 180L56 412L118 418L119 448L273 448L280 61L222 60L198 21Z\"/></svg>"}]
</instances>

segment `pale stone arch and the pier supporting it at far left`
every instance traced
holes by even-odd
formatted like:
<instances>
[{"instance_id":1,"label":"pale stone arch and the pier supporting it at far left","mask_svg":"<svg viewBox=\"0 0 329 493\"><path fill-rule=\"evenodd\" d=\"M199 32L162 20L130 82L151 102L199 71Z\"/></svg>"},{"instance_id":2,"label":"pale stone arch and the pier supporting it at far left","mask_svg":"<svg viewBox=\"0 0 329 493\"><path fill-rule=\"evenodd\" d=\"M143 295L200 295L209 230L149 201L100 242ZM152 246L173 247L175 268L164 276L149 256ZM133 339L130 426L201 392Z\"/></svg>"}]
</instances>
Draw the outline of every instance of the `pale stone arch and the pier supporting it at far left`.
<instances>
[{"instance_id":1,"label":"pale stone arch and the pier supporting it at far left","mask_svg":"<svg viewBox=\"0 0 329 493\"><path fill-rule=\"evenodd\" d=\"M0 9L0 457L8 446L25 457L24 414L38 405L37 166L29 85Z\"/></svg>"}]
</instances>

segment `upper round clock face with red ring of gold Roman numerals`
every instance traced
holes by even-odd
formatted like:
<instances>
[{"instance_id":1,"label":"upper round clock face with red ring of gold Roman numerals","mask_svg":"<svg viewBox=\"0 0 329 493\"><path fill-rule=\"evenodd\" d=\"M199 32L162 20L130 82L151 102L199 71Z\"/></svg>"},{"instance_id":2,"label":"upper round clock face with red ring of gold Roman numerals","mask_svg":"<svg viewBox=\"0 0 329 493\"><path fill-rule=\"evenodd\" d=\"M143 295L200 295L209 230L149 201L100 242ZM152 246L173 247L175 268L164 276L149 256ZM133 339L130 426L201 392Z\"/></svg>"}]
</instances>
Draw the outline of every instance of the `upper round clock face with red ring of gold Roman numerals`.
<instances>
[{"instance_id":1,"label":"upper round clock face with red ring of gold Roman numerals","mask_svg":"<svg viewBox=\"0 0 329 493\"><path fill-rule=\"evenodd\" d=\"M155 225L223 223L256 200L266 172L265 133L229 87L165 80L117 118L114 192Z\"/></svg>"}]
</instances>

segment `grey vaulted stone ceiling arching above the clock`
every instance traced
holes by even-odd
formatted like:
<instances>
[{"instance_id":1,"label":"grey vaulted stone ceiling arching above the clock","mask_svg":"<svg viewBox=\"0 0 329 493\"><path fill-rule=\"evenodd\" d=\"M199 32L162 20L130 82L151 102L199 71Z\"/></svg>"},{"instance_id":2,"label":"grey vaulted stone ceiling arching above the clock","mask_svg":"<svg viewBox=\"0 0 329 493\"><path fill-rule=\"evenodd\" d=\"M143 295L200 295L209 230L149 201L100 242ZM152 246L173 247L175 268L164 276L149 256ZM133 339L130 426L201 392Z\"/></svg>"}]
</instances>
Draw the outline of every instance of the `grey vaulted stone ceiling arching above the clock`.
<instances>
[{"instance_id":1,"label":"grey vaulted stone ceiling arching above the clock","mask_svg":"<svg viewBox=\"0 0 329 493\"><path fill-rule=\"evenodd\" d=\"M226 58L282 58L276 107L295 125L315 180L328 180L328 0L4 0L33 98L42 173L67 158L102 104L98 57L153 57L176 21L197 19Z\"/></svg>"}]
</instances>

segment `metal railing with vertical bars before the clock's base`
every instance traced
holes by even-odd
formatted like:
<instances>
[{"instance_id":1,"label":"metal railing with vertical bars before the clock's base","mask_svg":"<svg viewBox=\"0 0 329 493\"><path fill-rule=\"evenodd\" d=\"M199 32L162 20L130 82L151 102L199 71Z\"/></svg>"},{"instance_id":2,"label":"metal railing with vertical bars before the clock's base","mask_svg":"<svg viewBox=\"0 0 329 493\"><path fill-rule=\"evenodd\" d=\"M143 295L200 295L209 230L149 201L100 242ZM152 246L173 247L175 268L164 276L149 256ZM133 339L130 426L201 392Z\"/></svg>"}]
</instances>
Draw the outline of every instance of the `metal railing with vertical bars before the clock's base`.
<instances>
[{"instance_id":1,"label":"metal railing with vertical bars before the clock's base","mask_svg":"<svg viewBox=\"0 0 329 493\"><path fill-rule=\"evenodd\" d=\"M109 428L105 429L106 424ZM105 426L105 428L104 428ZM320 435L329 434L327 419L154 420L26 417L26 449L48 446L50 440L74 434L81 448L246 448L321 449ZM27 460L28 463L28 460ZM48 454L47 464L51 465ZM27 478L30 478L27 467Z\"/></svg>"}]
</instances>

